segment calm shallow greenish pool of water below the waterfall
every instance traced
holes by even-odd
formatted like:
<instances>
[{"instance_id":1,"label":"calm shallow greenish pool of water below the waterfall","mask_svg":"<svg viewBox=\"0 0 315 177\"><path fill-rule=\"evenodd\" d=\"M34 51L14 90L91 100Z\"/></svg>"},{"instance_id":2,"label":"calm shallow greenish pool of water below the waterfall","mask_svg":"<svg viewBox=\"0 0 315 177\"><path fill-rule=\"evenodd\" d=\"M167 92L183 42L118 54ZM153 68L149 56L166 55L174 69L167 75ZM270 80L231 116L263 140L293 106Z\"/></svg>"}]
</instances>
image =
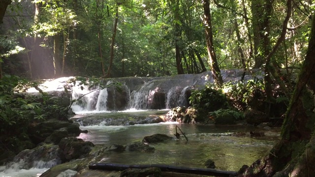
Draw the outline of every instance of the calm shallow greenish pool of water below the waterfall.
<instances>
[{"instance_id":1,"label":"calm shallow greenish pool of water below the waterfall","mask_svg":"<svg viewBox=\"0 0 315 177\"><path fill-rule=\"evenodd\" d=\"M259 130L264 131L266 136L252 138L249 136L249 132L257 130L257 127L178 124L174 122L128 126L81 126L81 129L86 129L89 132L81 134L78 138L91 141L95 145L126 145L141 141L144 136L157 133L173 136L176 125L185 132L189 139L188 142L182 136L181 140L174 138L169 142L150 145L156 149L154 153L111 152L105 153L100 159L102 162L111 163L168 164L195 168L204 168L205 161L212 159L215 161L217 169L237 171L242 165L251 165L255 160L266 155L280 138L279 128L268 131ZM244 137L232 136L236 132L247 132L247 135Z\"/></svg>"}]
</instances>

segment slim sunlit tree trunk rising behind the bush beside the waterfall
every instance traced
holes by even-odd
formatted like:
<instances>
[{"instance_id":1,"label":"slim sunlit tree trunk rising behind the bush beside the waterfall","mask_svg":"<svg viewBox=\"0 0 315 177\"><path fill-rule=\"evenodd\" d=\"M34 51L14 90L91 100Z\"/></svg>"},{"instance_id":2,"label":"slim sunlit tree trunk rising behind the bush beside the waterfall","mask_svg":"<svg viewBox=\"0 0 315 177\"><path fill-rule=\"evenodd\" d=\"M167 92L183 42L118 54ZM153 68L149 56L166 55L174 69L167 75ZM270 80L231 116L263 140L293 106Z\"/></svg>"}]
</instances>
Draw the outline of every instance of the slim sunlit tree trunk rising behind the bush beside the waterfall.
<instances>
[{"instance_id":1,"label":"slim sunlit tree trunk rising behind the bush beside the waterfall","mask_svg":"<svg viewBox=\"0 0 315 177\"><path fill-rule=\"evenodd\" d=\"M219 64L217 62L217 57L216 57L216 53L213 46L213 35L212 35L212 24L211 24L209 0L203 0L203 9L204 9L203 23L205 25L207 50L208 50L208 55L209 55L210 67L212 70L212 76L213 76L214 82L219 87L221 87L223 84L223 80L222 80L221 71L219 68Z\"/></svg>"}]
</instances>

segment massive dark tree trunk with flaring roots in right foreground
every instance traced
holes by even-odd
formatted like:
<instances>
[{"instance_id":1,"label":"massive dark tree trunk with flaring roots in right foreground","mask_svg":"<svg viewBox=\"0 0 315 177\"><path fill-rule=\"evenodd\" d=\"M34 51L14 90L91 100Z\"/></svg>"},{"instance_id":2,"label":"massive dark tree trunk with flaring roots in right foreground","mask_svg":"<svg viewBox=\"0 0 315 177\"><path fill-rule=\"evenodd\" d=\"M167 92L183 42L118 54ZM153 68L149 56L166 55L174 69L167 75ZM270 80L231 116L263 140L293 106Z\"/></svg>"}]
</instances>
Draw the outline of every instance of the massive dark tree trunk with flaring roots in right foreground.
<instances>
[{"instance_id":1,"label":"massive dark tree trunk with flaring roots in right foreground","mask_svg":"<svg viewBox=\"0 0 315 177\"><path fill-rule=\"evenodd\" d=\"M315 176L314 92L315 18L312 22L308 51L284 119L282 139L266 157L254 162L251 167L240 170L238 177Z\"/></svg>"}]
</instances>

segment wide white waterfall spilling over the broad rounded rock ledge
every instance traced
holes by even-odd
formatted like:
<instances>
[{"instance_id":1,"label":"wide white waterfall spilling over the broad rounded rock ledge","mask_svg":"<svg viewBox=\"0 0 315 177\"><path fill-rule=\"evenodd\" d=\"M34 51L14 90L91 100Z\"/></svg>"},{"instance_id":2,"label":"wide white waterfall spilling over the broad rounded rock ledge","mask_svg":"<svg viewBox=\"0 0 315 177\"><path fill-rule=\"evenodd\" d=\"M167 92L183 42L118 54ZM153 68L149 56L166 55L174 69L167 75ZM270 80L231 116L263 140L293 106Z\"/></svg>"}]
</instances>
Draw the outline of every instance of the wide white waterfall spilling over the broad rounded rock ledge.
<instances>
[{"instance_id":1,"label":"wide white waterfall spilling over the broad rounded rock ledge","mask_svg":"<svg viewBox=\"0 0 315 177\"><path fill-rule=\"evenodd\" d=\"M243 74L243 70L222 70L224 82L236 83ZM254 77L263 76L261 72ZM252 75L246 75L246 80L252 79ZM68 81L74 77L64 77L47 80L38 88L54 96L63 96L64 88L68 88ZM122 85L116 88L107 82L108 88L88 88L83 86L69 87L67 96L72 93L72 100L77 99L72 105L72 111L123 111L126 109L170 109L177 106L189 106L188 98L191 89L204 87L206 83L213 83L212 72L200 74L182 74L165 77L126 77L112 78L112 81ZM77 82L78 84L78 82ZM110 86L109 86L110 85ZM71 90L72 89L72 90ZM71 91L71 92L70 92ZM36 89L28 89L29 94L40 94Z\"/></svg>"}]
</instances>

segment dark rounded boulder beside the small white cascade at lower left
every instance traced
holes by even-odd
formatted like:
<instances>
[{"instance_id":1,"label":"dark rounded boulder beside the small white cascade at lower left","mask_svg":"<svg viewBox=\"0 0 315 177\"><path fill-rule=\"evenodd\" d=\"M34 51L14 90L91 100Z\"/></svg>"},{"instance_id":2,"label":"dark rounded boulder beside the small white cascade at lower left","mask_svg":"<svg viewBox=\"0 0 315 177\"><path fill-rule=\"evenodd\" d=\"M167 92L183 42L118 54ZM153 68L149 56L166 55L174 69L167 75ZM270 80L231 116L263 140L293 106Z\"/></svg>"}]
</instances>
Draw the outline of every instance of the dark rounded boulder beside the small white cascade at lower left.
<instances>
[{"instance_id":1,"label":"dark rounded boulder beside the small white cascade at lower left","mask_svg":"<svg viewBox=\"0 0 315 177\"><path fill-rule=\"evenodd\" d=\"M89 152L94 147L92 142L85 142L82 139L70 137L63 138L59 147L61 149L61 159L63 162L70 161L72 159L83 158L89 155Z\"/></svg>"}]
</instances>

